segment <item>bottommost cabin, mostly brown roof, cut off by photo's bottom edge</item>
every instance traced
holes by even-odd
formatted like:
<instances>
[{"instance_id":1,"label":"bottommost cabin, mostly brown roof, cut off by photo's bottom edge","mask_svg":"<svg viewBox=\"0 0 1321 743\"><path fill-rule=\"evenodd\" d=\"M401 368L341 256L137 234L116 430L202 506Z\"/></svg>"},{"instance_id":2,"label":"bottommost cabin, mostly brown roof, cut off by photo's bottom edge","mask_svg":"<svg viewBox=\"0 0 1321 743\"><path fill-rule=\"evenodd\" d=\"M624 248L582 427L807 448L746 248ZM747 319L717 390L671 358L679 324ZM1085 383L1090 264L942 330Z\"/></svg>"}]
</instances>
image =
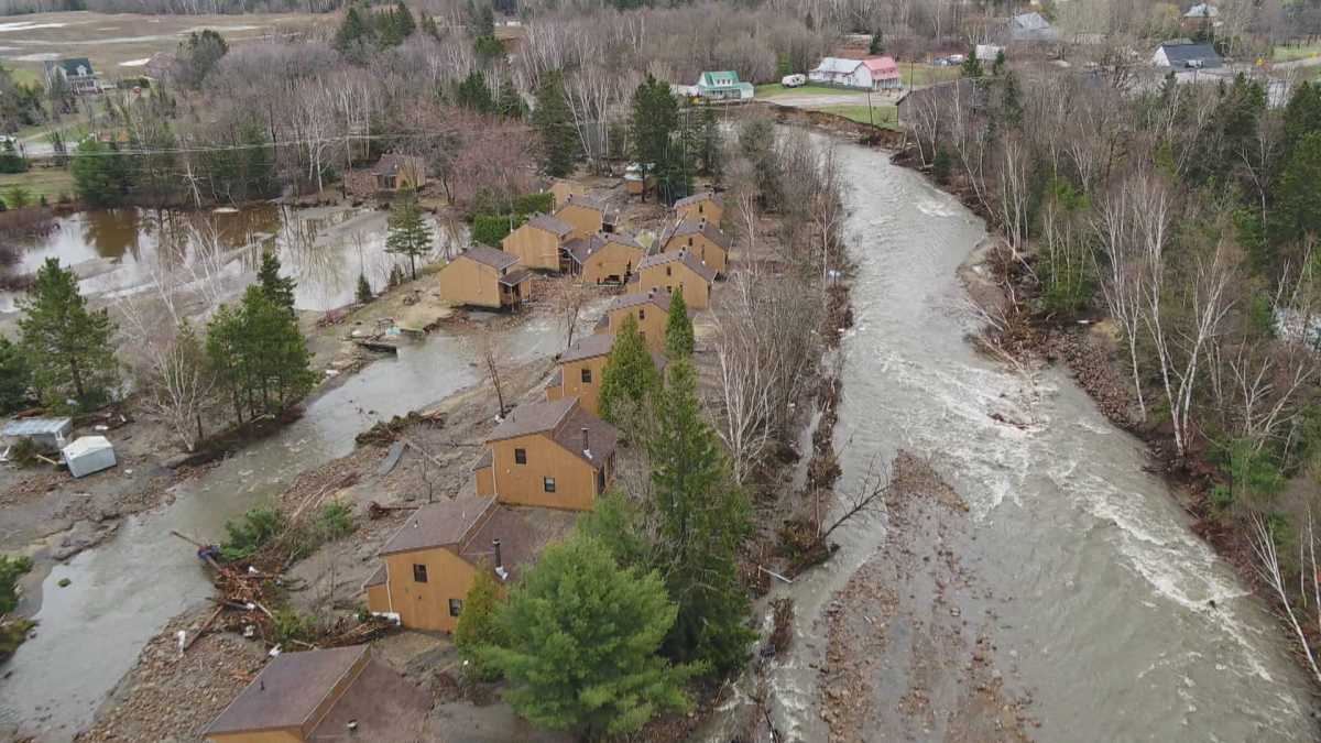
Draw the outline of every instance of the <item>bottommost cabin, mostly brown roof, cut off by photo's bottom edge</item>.
<instances>
[{"instance_id":1,"label":"bottommost cabin, mostly brown roof, cut off by photo's bottom edge","mask_svg":"<svg viewBox=\"0 0 1321 743\"><path fill-rule=\"evenodd\" d=\"M423 740L431 695L369 645L280 653L202 734L214 743Z\"/></svg>"}]
</instances>

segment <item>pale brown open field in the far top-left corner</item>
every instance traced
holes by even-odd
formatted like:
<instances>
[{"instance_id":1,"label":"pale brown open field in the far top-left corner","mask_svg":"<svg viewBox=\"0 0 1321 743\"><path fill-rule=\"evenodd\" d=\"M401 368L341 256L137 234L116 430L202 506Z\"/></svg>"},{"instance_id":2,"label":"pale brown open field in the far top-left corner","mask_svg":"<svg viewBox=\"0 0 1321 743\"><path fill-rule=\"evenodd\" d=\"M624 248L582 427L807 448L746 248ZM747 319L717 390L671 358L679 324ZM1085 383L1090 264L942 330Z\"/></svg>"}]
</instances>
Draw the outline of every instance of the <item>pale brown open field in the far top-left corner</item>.
<instances>
[{"instance_id":1,"label":"pale brown open field in the far top-left corner","mask_svg":"<svg viewBox=\"0 0 1321 743\"><path fill-rule=\"evenodd\" d=\"M333 16L252 13L243 16L143 16L133 13L30 13L0 19L0 59L20 74L44 75L44 62L87 57L103 78L140 74L157 52L174 52L192 32L213 29L230 46L271 33L293 32Z\"/></svg>"}]
</instances>

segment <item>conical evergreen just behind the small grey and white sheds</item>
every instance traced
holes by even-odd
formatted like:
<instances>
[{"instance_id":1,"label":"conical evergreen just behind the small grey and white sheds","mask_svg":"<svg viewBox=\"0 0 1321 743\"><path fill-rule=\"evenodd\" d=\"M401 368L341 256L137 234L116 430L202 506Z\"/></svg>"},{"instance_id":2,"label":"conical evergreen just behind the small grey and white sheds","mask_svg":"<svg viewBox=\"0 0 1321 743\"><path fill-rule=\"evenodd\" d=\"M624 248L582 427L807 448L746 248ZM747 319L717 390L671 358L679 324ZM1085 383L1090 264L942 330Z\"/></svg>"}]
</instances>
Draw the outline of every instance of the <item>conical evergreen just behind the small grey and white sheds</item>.
<instances>
[{"instance_id":1,"label":"conical evergreen just behind the small grey and white sheds","mask_svg":"<svg viewBox=\"0 0 1321 743\"><path fill-rule=\"evenodd\" d=\"M104 309L87 309L74 272L48 258L18 307L22 350L42 401L63 409L73 398L83 410L104 403L119 385L115 324Z\"/></svg>"}]
</instances>

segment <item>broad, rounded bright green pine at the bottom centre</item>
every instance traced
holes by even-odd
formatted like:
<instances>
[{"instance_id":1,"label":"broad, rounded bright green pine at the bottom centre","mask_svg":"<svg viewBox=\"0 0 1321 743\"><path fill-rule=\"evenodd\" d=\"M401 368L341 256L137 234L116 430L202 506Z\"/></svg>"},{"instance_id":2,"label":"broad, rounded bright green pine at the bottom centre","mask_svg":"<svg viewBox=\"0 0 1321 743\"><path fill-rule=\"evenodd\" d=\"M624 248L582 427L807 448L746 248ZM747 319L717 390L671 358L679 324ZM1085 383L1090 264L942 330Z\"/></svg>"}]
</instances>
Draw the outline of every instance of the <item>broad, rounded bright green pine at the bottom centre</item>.
<instances>
[{"instance_id":1,"label":"broad, rounded bright green pine at the bottom centre","mask_svg":"<svg viewBox=\"0 0 1321 743\"><path fill-rule=\"evenodd\" d=\"M635 732L690 706L696 670L657 654L675 619L655 572L621 570L594 539L546 549L499 613L509 636L486 650L509 681L505 701L532 724L581 738Z\"/></svg>"}]
</instances>

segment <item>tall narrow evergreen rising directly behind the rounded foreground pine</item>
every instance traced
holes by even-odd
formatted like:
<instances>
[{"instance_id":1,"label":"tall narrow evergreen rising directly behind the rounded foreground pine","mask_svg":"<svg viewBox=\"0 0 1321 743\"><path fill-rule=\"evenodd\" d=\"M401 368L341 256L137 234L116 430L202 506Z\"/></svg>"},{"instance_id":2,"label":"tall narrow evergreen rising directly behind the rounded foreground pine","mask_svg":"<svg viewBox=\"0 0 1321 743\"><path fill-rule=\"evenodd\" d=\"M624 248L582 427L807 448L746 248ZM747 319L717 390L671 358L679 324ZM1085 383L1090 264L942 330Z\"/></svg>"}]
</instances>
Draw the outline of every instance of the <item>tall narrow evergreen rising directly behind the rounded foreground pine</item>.
<instances>
[{"instance_id":1,"label":"tall narrow evergreen rising directly behind the rounded foreground pine","mask_svg":"<svg viewBox=\"0 0 1321 743\"><path fill-rule=\"evenodd\" d=\"M703 418L691 360L666 368L655 426L647 452L659 517L658 568L679 604L666 652L727 673L742 664L756 637L746 627L748 594L737 572L749 506Z\"/></svg>"}]
</instances>

